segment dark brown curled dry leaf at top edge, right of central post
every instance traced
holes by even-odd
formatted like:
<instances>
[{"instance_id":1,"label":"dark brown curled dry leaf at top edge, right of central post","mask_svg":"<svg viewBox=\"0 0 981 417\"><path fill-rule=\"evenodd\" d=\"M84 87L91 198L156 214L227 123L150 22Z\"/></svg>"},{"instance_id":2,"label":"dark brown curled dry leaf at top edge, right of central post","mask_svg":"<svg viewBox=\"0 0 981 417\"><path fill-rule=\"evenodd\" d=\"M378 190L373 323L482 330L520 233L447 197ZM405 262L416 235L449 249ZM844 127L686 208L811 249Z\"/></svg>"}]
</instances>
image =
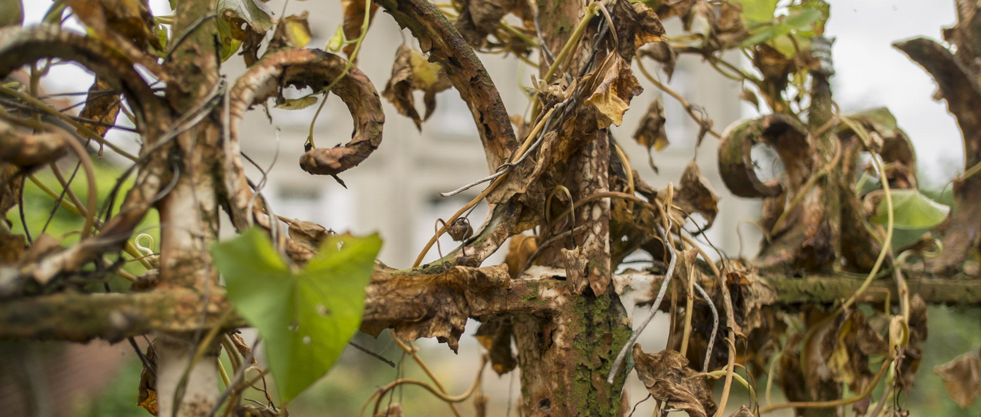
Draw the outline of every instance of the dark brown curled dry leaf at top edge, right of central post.
<instances>
[{"instance_id":1,"label":"dark brown curled dry leaf at top edge, right of central post","mask_svg":"<svg viewBox=\"0 0 981 417\"><path fill-rule=\"evenodd\" d=\"M664 25L644 3L617 0L611 15L620 41L617 52L627 61L634 58L638 48L650 42L663 43Z\"/></svg>"}]
</instances>

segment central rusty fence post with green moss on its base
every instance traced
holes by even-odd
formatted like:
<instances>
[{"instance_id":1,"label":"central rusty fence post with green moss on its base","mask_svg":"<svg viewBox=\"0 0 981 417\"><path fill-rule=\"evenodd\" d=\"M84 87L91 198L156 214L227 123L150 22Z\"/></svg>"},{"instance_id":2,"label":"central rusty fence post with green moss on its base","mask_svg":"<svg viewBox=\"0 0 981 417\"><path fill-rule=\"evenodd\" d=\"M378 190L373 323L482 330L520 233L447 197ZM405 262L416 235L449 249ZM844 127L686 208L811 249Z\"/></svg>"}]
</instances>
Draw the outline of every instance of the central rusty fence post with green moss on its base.
<instances>
[{"instance_id":1,"label":"central rusty fence post with green moss on its base","mask_svg":"<svg viewBox=\"0 0 981 417\"><path fill-rule=\"evenodd\" d=\"M545 44L557 54L565 45L576 24L583 18L584 4L577 1L542 0L539 25ZM581 45L592 46L589 34ZM603 40L598 40L602 42ZM594 68L602 60L584 63L571 53L569 73L584 66ZM615 53L615 52L610 52ZM542 69L542 74L546 69ZM561 76L561 75L559 75ZM582 132L577 132L582 133ZM563 184L574 201L609 191L610 141L605 130L586 133L592 137L568 162ZM529 139L531 140L531 139ZM576 209L576 225L585 225L572 240L586 259L585 278L569 279L567 285L574 301L566 302L548 317L521 315L515 317L514 334L521 366L523 415L527 416L617 416L624 413L621 398L626 372L619 372L612 385L606 376L620 347L631 330L626 310L620 305L610 283L609 245L610 203L597 200ZM543 226L543 225L542 225ZM571 227L571 226L570 226ZM554 234L563 230L553 230ZM542 236L546 239L547 236ZM560 249L569 241L560 239L542 253L540 263L563 267ZM582 293L580 295L580 293Z\"/></svg>"}]
</instances>

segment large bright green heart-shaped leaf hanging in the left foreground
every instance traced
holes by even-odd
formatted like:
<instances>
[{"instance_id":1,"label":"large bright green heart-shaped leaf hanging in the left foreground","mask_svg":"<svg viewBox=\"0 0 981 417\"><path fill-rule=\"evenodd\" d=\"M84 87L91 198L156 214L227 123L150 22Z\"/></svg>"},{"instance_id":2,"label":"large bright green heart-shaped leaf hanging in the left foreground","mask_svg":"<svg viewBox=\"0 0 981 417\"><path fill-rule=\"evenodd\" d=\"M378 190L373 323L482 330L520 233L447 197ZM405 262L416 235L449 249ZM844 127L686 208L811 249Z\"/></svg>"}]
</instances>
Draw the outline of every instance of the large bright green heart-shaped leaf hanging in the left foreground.
<instances>
[{"instance_id":1,"label":"large bright green heart-shaped leaf hanging in the left foreground","mask_svg":"<svg viewBox=\"0 0 981 417\"><path fill-rule=\"evenodd\" d=\"M258 228L212 247L235 309L259 330L281 400L324 376L361 323L378 235L331 236L291 270Z\"/></svg>"}]
</instances>

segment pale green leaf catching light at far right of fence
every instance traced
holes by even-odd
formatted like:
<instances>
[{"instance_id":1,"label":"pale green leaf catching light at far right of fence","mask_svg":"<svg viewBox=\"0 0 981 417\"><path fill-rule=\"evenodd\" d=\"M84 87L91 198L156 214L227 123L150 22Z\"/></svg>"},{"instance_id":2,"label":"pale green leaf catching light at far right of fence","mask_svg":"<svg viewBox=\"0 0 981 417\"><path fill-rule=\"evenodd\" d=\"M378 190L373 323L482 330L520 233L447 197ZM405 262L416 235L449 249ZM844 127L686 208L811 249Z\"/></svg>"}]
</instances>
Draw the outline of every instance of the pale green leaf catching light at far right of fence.
<instances>
[{"instance_id":1,"label":"pale green leaf catching light at far right of fence","mask_svg":"<svg viewBox=\"0 0 981 417\"><path fill-rule=\"evenodd\" d=\"M904 188L892 190L893 227L904 230L929 229L947 218L951 208L924 196L919 190ZM878 213L872 220L886 224L888 213L886 199L879 201Z\"/></svg>"}]
</instances>

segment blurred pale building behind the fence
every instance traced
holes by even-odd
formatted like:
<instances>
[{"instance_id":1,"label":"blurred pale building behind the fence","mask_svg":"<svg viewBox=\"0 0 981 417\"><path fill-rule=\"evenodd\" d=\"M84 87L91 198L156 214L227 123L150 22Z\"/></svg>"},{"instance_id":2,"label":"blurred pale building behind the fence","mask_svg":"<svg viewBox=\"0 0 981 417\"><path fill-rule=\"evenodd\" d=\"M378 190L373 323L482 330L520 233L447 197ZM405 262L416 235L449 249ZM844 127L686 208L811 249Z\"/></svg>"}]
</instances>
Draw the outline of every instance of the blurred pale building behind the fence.
<instances>
[{"instance_id":1,"label":"blurred pale building behind the fence","mask_svg":"<svg viewBox=\"0 0 981 417\"><path fill-rule=\"evenodd\" d=\"M280 10L276 2L270 2L273 10ZM334 3L291 2L286 14L310 11L310 26L314 40L311 47L323 46L340 23L339 6ZM378 13L358 57L358 68L364 71L376 89L384 89L394 61L395 49L404 41L418 48L408 30L402 33L397 23L385 13ZM500 55L482 56L494 84L511 115L525 114L528 100L522 84L529 83L530 74L537 69L518 60ZM653 70L655 64L648 62ZM232 59L224 68L232 79L244 70L238 59ZM658 71L659 73L659 71ZM624 116L613 135L627 153L645 181L663 188L668 181L678 183L685 165L696 155L697 124L672 98L664 97L667 116L667 132L671 145L654 155L660 168L655 175L647 165L646 149L637 145L631 136L647 105L660 92L640 74L645 92L635 97L632 110ZM740 116L739 84L727 80L696 59L679 61L670 85L691 103L705 108L714 120L714 128L721 131ZM421 93L417 93L421 108ZM347 184L345 190L334 179L307 174L299 168L303 143L307 137L309 122L316 106L301 111L271 109L273 123L261 109L254 116L243 120L241 132L242 150L264 168L274 161L264 194L272 200L278 214L312 220L336 231L352 230L355 233L382 233L385 244L380 257L394 267L411 266L425 243L434 233L438 217L448 218L483 188L475 187L468 193L453 198L440 198L438 192L446 192L488 175L487 162L477 129L466 104L453 90L438 95L435 114L423 123L418 132L411 119L395 112L385 99L386 123L382 145L361 165L340 174ZM282 130L276 141L275 127ZM317 120L314 129L318 147L333 147L350 140L351 122L343 103L331 96ZM735 234L737 223L757 216L755 206L749 201L731 197L718 177L715 163L717 140L706 136L697 153L702 173L715 185L723 196L719 218L709 233L712 243L732 255L739 252L739 240ZM250 174L258 178L259 171ZM482 205L471 219L477 224L484 218L487 206ZM749 227L747 228L749 229ZM448 236L443 248L453 247ZM749 242L749 241L748 241ZM755 244L748 243L744 253L752 255ZM502 254L500 254L502 255ZM434 248L427 260L438 255ZM489 262L500 258L491 258Z\"/></svg>"}]
</instances>

